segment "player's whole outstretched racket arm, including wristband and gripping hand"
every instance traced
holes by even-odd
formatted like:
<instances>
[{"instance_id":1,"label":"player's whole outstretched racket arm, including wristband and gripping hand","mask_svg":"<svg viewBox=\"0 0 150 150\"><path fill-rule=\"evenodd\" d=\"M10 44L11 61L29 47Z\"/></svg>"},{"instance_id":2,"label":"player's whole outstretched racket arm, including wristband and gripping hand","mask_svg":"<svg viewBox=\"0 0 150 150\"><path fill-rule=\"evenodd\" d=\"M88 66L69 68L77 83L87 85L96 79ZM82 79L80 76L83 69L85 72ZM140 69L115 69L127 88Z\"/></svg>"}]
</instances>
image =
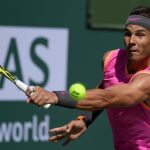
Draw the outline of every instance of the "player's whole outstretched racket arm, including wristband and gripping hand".
<instances>
[{"instance_id":1,"label":"player's whole outstretched racket arm, including wristband and gripping hand","mask_svg":"<svg viewBox=\"0 0 150 150\"><path fill-rule=\"evenodd\" d=\"M48 92L40 87L35 87L35 92L26 91L28 102L39 106L55 104L68 108L78 108L88 111L102 110L109 107L129 107L150 99L150 74L136 75L128 84L120 84L107 89L87 90L84 100L74 101L62 92ZM67 95L67 96L65 96Z\"/></svg>"}]
</instances>

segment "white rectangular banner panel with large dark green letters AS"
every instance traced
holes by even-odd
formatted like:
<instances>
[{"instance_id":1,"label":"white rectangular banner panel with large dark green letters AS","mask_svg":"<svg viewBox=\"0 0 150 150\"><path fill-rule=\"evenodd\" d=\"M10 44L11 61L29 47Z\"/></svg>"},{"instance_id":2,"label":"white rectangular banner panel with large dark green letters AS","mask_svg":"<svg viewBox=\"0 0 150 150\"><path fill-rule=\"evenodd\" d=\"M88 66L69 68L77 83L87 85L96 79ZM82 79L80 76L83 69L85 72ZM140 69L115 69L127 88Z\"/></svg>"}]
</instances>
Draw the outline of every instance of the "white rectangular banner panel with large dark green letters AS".
<instances>
[{"instance_id":1,"label":"white rectangular banner panel with large dark green letters AS","mask_svg":"<svg viewBox=\"0 0 150 150\"><path fill-rule=\"evenodd\" d=\"M64 28L0 26L0 65L28 85L65 90L68 36L69 30ZM0 101L26 98L15 85L2 78L0 95ZM16 130L21 134L18 124Z\"/></svg>"}]
</instances>

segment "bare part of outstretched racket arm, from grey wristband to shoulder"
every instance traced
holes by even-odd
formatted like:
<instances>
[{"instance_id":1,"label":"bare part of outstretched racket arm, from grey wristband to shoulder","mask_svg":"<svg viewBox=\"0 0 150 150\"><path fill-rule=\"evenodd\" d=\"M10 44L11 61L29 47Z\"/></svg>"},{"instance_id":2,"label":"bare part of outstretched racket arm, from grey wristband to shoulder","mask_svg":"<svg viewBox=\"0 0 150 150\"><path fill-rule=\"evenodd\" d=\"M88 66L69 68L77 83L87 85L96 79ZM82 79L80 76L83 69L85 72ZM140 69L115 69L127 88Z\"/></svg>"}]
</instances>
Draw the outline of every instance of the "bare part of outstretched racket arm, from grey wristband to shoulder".
<instances>
[{"instance_id":1,"label":"bare part of outstretched racket arm, from grey wristband to shoulder","mask_svg":"<svg viewBox=\"0 0 150 150\"><path fill-rule=\"evenodd\" d=\"M131 83L112 86L107 89L91 89L76 107L96 111L109 107L129 107L150 98L150 75L139 74Z\"/></svg>"}]
</instances>

